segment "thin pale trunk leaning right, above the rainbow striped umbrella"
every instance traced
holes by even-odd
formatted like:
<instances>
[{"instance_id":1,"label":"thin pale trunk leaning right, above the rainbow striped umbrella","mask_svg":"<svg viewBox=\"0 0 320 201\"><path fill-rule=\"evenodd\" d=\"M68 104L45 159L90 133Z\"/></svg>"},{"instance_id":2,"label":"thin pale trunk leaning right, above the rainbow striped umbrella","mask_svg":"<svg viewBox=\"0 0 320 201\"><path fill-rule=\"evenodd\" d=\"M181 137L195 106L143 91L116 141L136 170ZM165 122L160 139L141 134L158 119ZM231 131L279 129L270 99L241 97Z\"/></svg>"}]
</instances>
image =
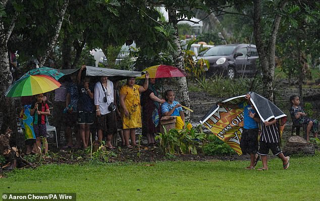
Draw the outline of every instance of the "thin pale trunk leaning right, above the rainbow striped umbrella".
<instances>
[{"instance_id":1,"label":"thin pale trunk leaning right, above the rainbow striped umbrella","mask_svg":"<svg viewBox=\"0 0 320 201\"><path fill-rule=\"evenodd\" d=\"M59 37L59 33L60 33L60 29L61 29L61 25L64 19L64 15L66 13L67 7L69 4L69 0L65 0L64 4L62 5L61 11L59 13L59 19L58 22L56 24L55 27L55 33L54 36L51 38L51 40L48 42L47 44L47 48L45 50L44 56L41 58L40 62L39 62L39 67L42 67L44 62L46 61L46 59L48 58L50 52L52 51L52 48L54 48L56 41Z\"/></svg>"}]
</instances>

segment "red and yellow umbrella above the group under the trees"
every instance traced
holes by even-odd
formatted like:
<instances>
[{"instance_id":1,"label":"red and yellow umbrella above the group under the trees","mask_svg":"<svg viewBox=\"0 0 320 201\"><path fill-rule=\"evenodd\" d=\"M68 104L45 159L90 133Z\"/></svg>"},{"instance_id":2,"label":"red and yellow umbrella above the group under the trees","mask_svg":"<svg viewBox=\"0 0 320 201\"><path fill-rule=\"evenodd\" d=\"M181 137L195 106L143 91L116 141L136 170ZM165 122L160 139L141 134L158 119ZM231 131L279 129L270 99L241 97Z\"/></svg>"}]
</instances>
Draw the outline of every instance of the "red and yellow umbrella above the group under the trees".
<instances>
[{"instance_id":1,"label":"red and yellow umbrella above the group under the trees","mask_svg":"<svg viewBox=\"0 0 320 201\"><path fill-rule=\"evenodd\" d=\"M143 72L148 71L149 78L165 78L165 77L185 77L186 75L179 69L173 66L168 65L156 65L148 67ZM138 78L145 78L145 75L142 75Z\"/></svg>"}]
</instances>

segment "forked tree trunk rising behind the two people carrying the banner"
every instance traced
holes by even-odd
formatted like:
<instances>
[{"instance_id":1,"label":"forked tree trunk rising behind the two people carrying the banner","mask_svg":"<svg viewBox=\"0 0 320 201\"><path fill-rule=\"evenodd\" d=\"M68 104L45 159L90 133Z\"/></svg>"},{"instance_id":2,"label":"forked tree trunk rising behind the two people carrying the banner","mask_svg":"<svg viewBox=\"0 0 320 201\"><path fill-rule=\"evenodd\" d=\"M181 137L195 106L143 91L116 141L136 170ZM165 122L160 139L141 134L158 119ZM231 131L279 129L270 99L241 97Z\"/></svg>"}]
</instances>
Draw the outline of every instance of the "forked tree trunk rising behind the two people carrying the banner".
<instances>
[{"instance_id":1,"label":"forked tree trunk rising behind the two people carrying the banner","mask_svg":"<svg viewBox=\"0 0 320 201\"><path fill-rule=\"evenodd\" d=\"M283 9L286 1L282 1L276 9ZM253 32L262 69L263 96L273 101L273 81L275 75L275 49L281 16L276 12L270 39L263 39L263 27L261 23L261 0L253 1Z\"/></svg>"}]
</instances>

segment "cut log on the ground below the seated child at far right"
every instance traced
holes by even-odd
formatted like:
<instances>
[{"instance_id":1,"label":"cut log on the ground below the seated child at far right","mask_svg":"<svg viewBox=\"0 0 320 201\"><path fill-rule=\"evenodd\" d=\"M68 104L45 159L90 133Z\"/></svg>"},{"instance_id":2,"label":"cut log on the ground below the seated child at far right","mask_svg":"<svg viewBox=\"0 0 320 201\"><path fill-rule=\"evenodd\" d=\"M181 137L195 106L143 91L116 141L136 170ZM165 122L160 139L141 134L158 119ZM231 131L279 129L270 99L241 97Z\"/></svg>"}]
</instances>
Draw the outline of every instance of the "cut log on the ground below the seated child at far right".
<instances>
[{"instance_id":1,"label":"cut log on the ground below the seated child at far right","mask_svg":"<svg viewBox=\"0 0 320 201\"><path fill-rule=\"evenodd\" d=\"M288 142L283 148L286 155L305 154L314 155L314 146L307 142L303 137L294 135L289 137Z\"/></svg>"}]
</instances>

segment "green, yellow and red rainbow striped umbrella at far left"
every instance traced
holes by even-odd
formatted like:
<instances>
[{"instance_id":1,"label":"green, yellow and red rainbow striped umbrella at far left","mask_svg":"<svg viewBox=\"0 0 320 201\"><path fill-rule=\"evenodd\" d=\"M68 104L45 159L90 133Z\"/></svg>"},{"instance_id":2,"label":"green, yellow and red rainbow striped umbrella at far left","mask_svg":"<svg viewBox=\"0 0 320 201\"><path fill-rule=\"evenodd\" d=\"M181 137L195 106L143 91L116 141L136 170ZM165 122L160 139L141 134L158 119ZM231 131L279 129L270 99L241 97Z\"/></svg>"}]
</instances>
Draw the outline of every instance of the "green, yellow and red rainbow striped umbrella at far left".
<instances>
[{"instance_id":1,"label":"green, yellow and red rainbow striped umbrella at far left","mask_svg":"<svg viewBox=\"0 0 320 201\"><path fill-rule=\"evenodd\" d=\"M60 82L48 75L30 75L15 81L5 95L8 97L36 95L55 90L60 86Z\"/></svg>"}]
</instances>

